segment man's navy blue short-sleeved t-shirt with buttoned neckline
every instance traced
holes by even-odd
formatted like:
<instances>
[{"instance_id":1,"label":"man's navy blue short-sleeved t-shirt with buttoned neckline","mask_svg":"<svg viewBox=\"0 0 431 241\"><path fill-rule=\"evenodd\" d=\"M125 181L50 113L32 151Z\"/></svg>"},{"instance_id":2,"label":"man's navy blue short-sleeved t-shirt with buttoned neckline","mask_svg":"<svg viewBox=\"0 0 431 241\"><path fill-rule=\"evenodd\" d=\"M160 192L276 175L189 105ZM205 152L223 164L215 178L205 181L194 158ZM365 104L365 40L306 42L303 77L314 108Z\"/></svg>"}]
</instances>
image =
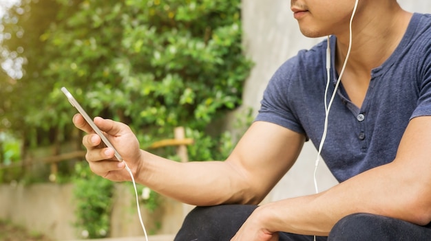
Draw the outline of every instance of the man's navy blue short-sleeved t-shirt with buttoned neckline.
<instances>
[{"instance_id":1,"label":"man's navy blue short-sleeved t-shirt with buttoned neckline","mask_svg":"<svg viewBox=\"0 0 431 241\"><path fill-rule=\"evenodd\" d=\"M330 42L334 60L335 36ZM337 77L332 71L328 100ZM299 51L275 72L255 120L303 133L318 147L325 88L326 40ZM415 13L394 53L372 69L361 108L350 102L340 85L329 113L322 158L340 182L389 163L408 122L421 115L431 115L431 15Z\"/></svg>"}]
</instances>

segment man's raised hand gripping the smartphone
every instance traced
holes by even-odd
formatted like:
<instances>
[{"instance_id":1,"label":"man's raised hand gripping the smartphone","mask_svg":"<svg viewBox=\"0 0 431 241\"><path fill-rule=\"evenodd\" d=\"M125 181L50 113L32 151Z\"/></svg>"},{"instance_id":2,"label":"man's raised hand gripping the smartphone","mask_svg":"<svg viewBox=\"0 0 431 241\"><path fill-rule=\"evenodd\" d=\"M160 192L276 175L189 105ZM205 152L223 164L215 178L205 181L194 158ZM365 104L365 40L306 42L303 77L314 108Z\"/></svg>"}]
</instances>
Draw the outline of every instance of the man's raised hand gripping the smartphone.
<instances>
[{"instance_id":1,"label":"man's raised hand gripping the smartphone","mask_svg":"<svg viewBox=\"0 0 431 241\"><path fill-rule=\"evenodd\" d=\"M114 150L107 148L102 143L101 137L94 133L94 130L85 122L82 115L74 115L73 122L77 128L87 133L83 137L83 145L87 148L85 159L90 164L92 172L112 181L129 181L129 174L123 170L125 163L116 160ZM141 165L142 154L138 139L136 139L129 126L101 117L94 118L94 124L105 133L107 139L127 162L127 165L129 165L129 168L136 176Z\"/></svg>"}]
</instances>

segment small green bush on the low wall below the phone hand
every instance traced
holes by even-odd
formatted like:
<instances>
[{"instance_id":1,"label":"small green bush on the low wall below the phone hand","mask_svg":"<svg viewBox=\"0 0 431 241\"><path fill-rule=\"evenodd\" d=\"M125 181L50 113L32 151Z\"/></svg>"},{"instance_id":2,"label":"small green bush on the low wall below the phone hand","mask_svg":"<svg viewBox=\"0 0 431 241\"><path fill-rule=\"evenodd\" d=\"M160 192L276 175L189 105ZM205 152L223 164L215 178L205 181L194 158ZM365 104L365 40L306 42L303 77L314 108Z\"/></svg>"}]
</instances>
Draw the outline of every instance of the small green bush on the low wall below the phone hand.
<instances>
[{"instance_id":1,"label":"small green bush on the low wall below the phone hand","mask_svg":"<svg viewBox=\"0 0 431 241\"><path fill-rule=\"evenodd\" d=\"M76 227L83 238L103 238L109 234L114 183L90 172L90 168L76 163L74 201Z\"/></svg>"}]
</instances>

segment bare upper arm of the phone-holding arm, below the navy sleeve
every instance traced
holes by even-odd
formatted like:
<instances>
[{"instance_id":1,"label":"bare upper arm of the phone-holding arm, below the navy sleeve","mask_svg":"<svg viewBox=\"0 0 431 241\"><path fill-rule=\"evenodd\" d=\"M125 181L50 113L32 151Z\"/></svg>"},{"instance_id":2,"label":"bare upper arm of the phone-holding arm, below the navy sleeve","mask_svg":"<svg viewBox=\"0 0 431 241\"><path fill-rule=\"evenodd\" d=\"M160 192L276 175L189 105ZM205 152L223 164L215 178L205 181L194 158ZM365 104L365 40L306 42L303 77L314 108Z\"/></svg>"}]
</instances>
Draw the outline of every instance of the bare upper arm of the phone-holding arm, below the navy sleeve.
<instances>
[{"instance_id":1,"label":"bare upper arm of the phone-holding arm, below the navy sleeve","mask_svg":"<svg viewBox=\"0 0 431 241\"><path fill-rule=\"evenodd\" d=\"M259 203L291 168L305 137L277 124L254 122L227 163L238 173L244 203Z\"/></svg>"}]
</instances>

